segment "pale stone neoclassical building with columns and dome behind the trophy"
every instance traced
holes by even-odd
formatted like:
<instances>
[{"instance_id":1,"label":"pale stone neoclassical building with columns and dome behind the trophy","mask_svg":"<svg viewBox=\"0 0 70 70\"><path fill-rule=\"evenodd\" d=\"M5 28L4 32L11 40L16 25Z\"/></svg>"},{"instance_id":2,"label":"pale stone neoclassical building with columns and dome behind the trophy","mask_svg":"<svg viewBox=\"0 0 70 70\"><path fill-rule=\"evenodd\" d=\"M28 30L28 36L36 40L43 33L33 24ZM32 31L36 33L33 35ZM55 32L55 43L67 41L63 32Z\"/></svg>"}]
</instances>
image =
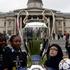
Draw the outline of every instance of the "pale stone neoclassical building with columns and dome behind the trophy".
<instances>
[{"instance_id":1,"label":"pale stone neoclassical building with columns and dome behind the trophy","mask_svg":"<svg viewBox=\"0 0 70 70\"><path fill-rule=\"evenodd\" d=\"M50 33L70 33L70 14L60 11L43 8L42 0L28 0L27 8L17 9L12 12L0 14L0 32L7 34L17 33L17 20L19 29L22 29L27 22L45 22Z\"/></svg>"}]
</instances>

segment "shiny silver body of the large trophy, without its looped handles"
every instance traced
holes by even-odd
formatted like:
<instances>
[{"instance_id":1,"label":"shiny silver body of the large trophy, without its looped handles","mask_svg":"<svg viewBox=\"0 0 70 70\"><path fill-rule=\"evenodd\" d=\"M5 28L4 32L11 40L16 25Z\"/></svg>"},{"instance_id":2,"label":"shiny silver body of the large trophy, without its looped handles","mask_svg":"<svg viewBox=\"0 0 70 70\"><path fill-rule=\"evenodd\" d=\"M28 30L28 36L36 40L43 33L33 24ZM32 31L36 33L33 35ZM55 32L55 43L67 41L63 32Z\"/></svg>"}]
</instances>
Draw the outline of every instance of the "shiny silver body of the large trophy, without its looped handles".
<instances>
[{"instance_id":1,"label":"shiny silver body of the large trophy, without its looped handles","mask_svg":"<svg viewBox=\"0 0 70 70\"><path fill-rule=\"evenodd\" d=\"M31 57L32 65L38 65L41 61L44 49L47 48L48 28L42 22L29 22L23 28L24 44ZM44 42L46 44L44 45Z\"/></svg>"}]
</instances>

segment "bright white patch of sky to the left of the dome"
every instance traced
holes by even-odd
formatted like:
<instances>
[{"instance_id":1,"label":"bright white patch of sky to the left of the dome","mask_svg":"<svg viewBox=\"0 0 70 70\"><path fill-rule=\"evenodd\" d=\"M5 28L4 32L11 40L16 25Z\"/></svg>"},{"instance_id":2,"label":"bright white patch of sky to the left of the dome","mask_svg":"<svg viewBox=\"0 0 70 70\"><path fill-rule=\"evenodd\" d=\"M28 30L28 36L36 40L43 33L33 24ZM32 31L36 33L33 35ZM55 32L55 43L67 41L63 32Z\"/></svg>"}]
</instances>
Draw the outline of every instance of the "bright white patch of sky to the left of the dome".
<instances>
[{"instance_id":1,"label":"bright white patch of sky to the left of the dome","mask_svg":"<svg viewBox=\"0 0 70 70\"><path fill-rule=\"evenodd\" d=\"M0 0L0 11L12 11L26 7L26 0Z\"/></svg>"}]
</instances>

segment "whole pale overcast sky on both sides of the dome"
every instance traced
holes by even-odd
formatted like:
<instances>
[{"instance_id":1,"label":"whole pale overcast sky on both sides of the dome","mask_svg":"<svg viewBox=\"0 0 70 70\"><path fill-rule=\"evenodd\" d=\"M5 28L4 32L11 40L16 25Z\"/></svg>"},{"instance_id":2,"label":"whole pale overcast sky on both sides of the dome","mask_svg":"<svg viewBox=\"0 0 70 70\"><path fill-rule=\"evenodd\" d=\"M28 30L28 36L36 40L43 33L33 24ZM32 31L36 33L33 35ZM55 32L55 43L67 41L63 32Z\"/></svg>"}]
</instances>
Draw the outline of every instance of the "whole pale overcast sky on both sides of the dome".
<instances>
[{"instance_id":1,"label":"whole pale overcast sky on both sides of the dome","mask_svg":"<svg viewBox=\"0 0 70 70\"><path fill-rule=\"evenodd\" d=\"M28 0L0 0L0 12L27 8ZM42 0L43 7L70 13L70 0Z\"/></svg>"}]
</instances>

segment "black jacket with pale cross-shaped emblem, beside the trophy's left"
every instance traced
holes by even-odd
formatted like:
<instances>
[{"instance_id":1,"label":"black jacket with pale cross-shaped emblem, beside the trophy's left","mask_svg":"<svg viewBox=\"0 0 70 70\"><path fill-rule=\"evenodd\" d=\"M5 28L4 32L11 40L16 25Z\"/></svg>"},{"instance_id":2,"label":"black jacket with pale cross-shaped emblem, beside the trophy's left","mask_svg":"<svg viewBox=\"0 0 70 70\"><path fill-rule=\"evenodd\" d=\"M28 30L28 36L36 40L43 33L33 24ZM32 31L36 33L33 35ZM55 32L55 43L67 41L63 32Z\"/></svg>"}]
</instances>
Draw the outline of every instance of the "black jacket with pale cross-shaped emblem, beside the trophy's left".
<instances>
[{"instance_id":1,"label":"black jacket with pale cross-shaped emblem, beside the trophy's left","mask_svg":"<svg viewBox=\"0 0 70 70\"><path fill-rule=\"evenodd\" d=\"M14 66L26 67L27 66L27 54L20 48L5 48L5 67L12 70Z\"/></svg>"}]
</instances>

